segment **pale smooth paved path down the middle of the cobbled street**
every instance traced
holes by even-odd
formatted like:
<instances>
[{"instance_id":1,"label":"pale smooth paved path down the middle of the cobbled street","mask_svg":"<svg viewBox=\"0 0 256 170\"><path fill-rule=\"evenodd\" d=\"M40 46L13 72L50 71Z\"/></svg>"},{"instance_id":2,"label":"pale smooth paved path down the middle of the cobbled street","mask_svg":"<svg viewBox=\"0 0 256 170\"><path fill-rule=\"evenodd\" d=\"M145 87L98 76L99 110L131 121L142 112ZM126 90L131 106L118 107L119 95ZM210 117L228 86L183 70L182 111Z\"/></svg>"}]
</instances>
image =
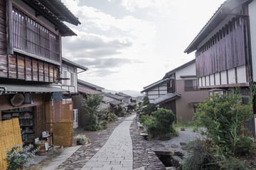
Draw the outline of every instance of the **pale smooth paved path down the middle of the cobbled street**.
<instances>
[{"instance_id":1,"label":"pale smooth paved path down the middle of the cobbled street","mask_svg":"<svg viewBox=\"0 0 256 170\"><path fill-rule=\"evenodd\" d=\"M114 129L105 145L82 167L82 170L133 169L132 138L129 127L135 116L126 118Z\"/></svg>"}]
</instances>

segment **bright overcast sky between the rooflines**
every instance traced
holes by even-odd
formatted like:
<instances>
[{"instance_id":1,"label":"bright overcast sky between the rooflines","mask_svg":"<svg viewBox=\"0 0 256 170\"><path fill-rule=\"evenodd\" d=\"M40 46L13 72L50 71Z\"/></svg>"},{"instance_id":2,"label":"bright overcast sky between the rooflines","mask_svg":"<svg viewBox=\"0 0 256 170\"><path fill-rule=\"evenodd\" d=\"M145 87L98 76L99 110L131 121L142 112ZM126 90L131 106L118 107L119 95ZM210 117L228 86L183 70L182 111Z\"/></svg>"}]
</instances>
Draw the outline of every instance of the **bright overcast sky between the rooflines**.
<instances>
[{"instance_id":1,"label":"bright overcast sky between the rooflines","mask_svg":"<svg viewBox=\"0 0 256 170\"><path fill-rule=\"evenodd\" d=\"M78 78L114 91L142 91L194 58L188 47L224 0L62 0L82 23L63 38Z\"/></svg>"}]
</instances>

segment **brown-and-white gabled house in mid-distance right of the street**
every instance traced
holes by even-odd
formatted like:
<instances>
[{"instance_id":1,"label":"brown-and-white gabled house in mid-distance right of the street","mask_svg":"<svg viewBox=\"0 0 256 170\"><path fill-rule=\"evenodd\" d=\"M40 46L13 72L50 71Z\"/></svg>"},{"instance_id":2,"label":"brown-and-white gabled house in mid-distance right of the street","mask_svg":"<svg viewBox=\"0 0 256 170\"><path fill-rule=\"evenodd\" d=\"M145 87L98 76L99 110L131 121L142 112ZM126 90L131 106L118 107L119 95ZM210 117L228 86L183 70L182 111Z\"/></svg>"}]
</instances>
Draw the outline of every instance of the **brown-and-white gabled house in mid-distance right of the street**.
<instances>
[{"instance_id":1,"label":"brown-and-white gabled house in mid-distance right of the street","mask_svg":"<svg viewBox=\"0 0 256 170\"><path fill-rule=\"evenodd\" d=\"M150 103L173 111L176 120L192 120L195 103L203 102L208 91L198 89L195 60L167 72L163 79L141 91Z\"/></svg>"}]
</instances>

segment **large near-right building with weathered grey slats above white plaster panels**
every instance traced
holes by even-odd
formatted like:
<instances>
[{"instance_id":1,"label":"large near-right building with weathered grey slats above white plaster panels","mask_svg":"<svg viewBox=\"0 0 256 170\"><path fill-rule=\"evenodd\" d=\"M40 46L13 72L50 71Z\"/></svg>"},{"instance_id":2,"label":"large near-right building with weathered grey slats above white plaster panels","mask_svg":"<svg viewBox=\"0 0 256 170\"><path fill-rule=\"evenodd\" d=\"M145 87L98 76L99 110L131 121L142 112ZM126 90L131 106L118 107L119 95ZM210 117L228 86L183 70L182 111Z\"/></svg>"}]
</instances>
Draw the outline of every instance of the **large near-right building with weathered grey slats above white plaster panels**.
<instances>
[{"instance_id":1,"label":"large near-right building with weathered grey slats above white plaster panels","mask_svg":"<svg viewBox=\"0 0 256 170\"><path fill-rule=\"evenodd\" d=\"M221 4L185 50L186 53L196 51L200 89L229 91L238 86L242 101L247 103L250 81L256 82L255 30L255 0L230 0ZM250 130L255 133L255 119Z\"/></svg>"}]
</instances>

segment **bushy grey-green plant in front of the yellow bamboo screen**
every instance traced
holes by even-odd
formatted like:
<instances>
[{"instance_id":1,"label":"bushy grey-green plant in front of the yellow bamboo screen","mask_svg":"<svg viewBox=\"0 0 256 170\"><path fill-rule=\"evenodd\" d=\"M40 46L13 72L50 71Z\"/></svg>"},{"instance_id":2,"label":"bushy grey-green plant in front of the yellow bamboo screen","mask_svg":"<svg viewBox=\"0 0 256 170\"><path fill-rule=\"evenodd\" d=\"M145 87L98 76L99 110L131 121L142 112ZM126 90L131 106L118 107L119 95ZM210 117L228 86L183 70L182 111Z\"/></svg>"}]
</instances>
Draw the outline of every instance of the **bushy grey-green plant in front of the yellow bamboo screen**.
<instances>
[{"instance_id":1,"label":"bushy grey-green plant in front of the yellow bamboo screen","mask_svg":"<svg viewBox=\"0 0 256 170\"><path fill-rule=\"evenodd\" d=\"M38 152L39 149L32 149L33 145L28 145L23 148L21 146L22 145L14 145L11 150L7 148L5 159L7 163L7 169L24 169L24 167L28 166L28 162L32 159L32 157L36 156L36 152Z\"/></svg>"}]
</instances>

